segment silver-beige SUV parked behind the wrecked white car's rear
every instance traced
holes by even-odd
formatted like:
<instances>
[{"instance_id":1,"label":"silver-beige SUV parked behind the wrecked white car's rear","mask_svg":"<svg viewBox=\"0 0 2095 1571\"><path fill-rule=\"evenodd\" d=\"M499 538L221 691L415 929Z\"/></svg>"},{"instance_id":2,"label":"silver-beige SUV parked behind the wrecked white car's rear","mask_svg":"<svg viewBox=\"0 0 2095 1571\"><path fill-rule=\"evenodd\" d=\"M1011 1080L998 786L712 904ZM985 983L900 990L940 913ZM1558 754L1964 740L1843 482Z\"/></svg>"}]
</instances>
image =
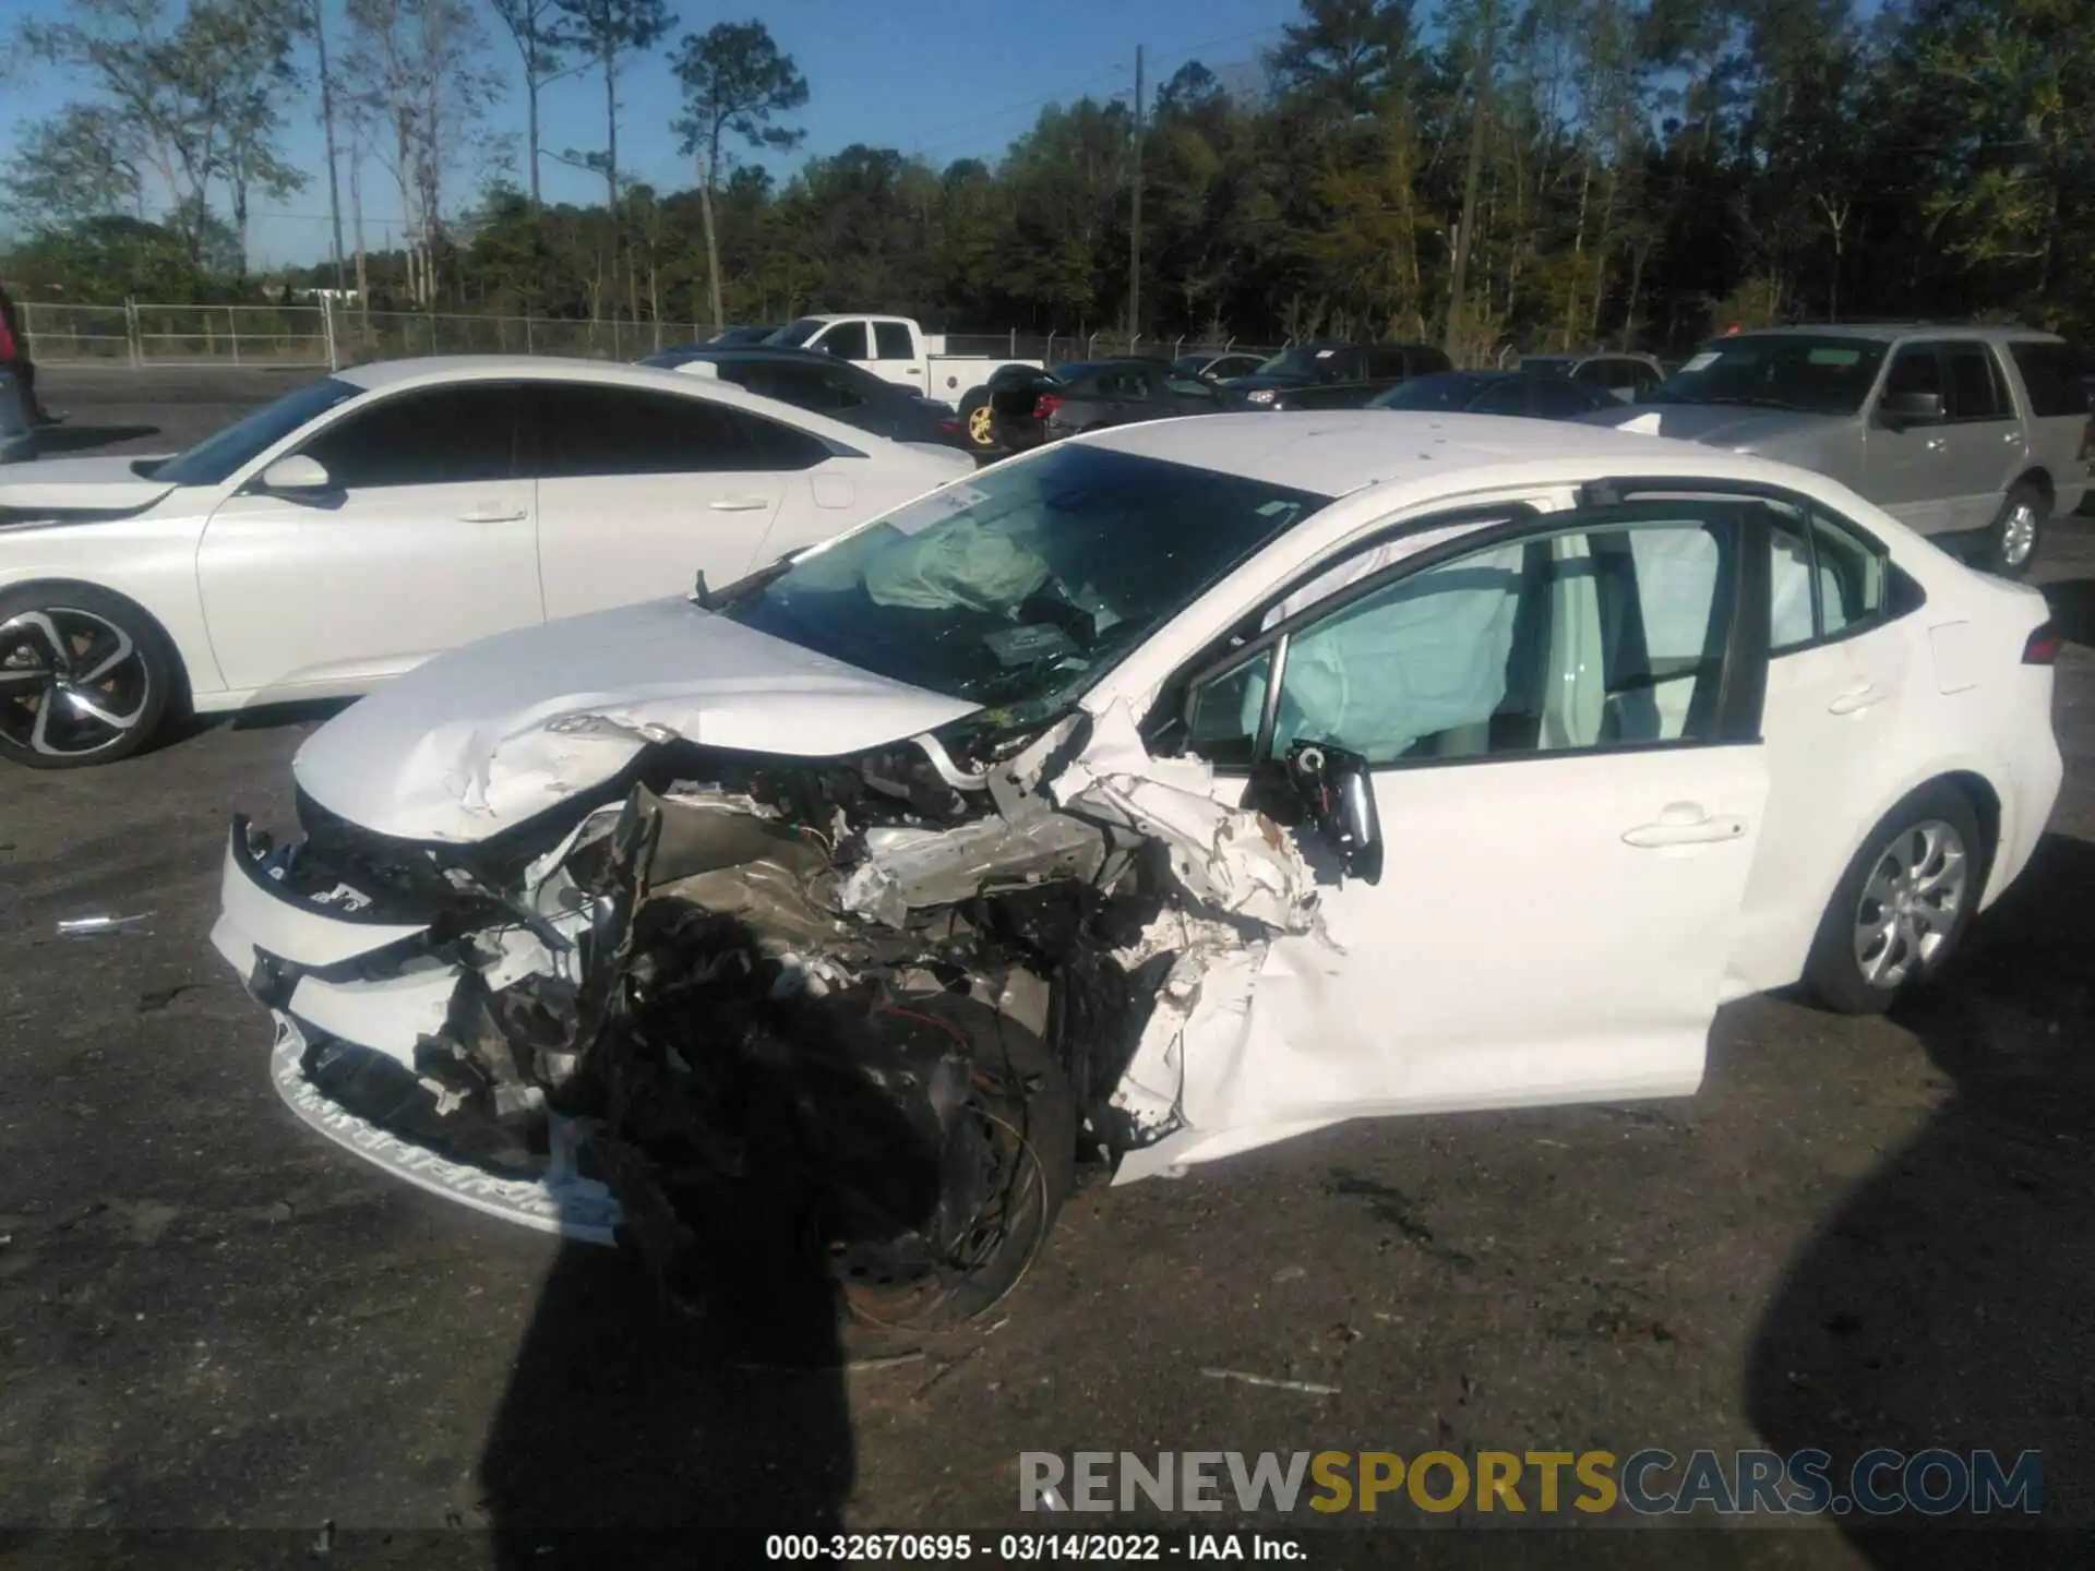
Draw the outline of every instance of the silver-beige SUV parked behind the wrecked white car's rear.
<instances>
[{"instance_id":1,"label":"silver-beige SUV parked behind the wrecked white car's rear","mask_svg":"<svg viewBox=\"0 0 2095 1571\"><path fill-rule=\"evenodd\" d=\"M2061 339L2017 327L1770 327L1712 339L1642 406L1586 419L1814 469L2022 574L2089 484L2076 371Z\"/></svg>"}]
</instances>

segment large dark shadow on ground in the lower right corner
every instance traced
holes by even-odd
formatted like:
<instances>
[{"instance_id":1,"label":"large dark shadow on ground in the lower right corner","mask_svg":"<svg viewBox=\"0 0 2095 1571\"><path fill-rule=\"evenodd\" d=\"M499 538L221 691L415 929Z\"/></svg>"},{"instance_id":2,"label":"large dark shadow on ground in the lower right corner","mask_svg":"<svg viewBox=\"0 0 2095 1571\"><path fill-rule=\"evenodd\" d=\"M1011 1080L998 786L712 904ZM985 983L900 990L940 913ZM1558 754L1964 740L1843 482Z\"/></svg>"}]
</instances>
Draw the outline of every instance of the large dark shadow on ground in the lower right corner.
<instances>
[{"instance_id":1,"label":"large dark shadow on ground in the lower right corner","mask_svg":"<svg viewBox=\"0 0 2095 1571\"><path fill-rule=\"evenodd\" d=\"M1980 1523L1965 1508L1913 1531L1925 1519L1852 1512L1842 1527L1873 1565L2095 1556L2091 911L2095 846L2045 836L1944 984L1898 1014L1948 1100L1846 1196L1758 1328L1754 1426L1781 1452L1829 1452L1835 1493L1871 1447L1992 1450L2007 1466L2034 1450L2043 1521L2078 1529L2072 1542L1944 1531Z\"/></svg>"}]
</instances>

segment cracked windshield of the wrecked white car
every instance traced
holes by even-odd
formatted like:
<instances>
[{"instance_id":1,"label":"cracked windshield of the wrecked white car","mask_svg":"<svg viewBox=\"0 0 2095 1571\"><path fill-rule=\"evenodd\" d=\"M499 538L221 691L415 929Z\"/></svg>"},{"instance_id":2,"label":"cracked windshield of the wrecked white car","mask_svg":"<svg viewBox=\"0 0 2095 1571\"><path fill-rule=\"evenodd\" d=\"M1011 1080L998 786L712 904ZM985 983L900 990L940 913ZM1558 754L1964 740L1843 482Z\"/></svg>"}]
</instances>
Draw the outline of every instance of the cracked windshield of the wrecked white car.
<instances>
[{"instance_id":1,"label":"cracked windshield of the wrecked white car","mask_svg":"<svg viewBox=\"0 0 2095 1571\"><path fill-rule=\"evenodd\" d=\"M1066 446L815 547L725 614L1024 725L1326 501Z\"/></svg>"}]
</instances>

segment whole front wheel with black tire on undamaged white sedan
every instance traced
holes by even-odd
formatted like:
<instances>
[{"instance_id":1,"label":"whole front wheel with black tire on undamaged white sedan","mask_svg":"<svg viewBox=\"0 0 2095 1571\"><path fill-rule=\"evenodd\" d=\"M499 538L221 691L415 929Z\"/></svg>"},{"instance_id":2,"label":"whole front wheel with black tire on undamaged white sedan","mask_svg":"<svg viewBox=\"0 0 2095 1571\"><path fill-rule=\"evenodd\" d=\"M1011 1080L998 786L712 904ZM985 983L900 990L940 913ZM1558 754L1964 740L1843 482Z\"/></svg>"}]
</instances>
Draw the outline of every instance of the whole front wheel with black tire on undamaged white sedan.
<instances>
[{"instance_id":1,"label":"whole front wheel with black tire on undamaged white sedan","mask_svg":"<svg viewBox=\"0 0 2095 1571\"><path fill-rule=\"evenodd\" d=\"M0 593L0 760L92 769L142 750L182 662L138 605L94 584Z\"/></svg>"}]
</instances>

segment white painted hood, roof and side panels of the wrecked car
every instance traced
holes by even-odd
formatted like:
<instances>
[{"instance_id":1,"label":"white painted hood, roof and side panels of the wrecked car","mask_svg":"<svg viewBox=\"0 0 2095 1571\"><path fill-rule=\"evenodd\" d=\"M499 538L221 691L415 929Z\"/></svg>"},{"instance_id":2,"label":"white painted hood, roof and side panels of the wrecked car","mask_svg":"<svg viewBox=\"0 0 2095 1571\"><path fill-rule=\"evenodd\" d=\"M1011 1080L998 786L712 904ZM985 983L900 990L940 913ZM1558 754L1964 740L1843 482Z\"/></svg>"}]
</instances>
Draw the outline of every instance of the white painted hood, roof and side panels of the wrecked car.
<instances>
[{"instance_id":1,"label":"white painted hood, roof and side panels of the wrecked car","mask_svg":"<svg viewBox=\"0 0 2095 1571\"><path fill-rule=\"evenodd\" d=\"M2043 597L1973 574L1831 480L1483 417L1219 415L1077 440L1337 496L1108 672L1083 698L1091 744L1050 781L1064 811L1144 823L1184 888L1265 932L1211 930L1192 997L1161 1005L1123 1093L1140 1081L1150 1112L1175 1100L1184 1127L1133 1152L1123 1179L1349 1116L1686 1093L1718 1003L1798 978L1829 890L1892 804L1950 773L1978 777L2001 804L1992 901L2057 796L2051 672L2020 662ZM1326 880L1314 909L1284 859L1240 834L1240 781L1142 750L1131 716L1186 662L1280 587L1322 576L1322 595L1353 578L1347 557L1368 536L1481 503L1561 511L1584 482L1638 473L1816 499L1883 540L1925 605L1774 658L1758 744L1376 771L1383 878ZM432 660L323 727L295 773L383 834L476 840L610 779L652 735L836 756L966 712L660 601Z\"/></svg>"}]
</instances>

